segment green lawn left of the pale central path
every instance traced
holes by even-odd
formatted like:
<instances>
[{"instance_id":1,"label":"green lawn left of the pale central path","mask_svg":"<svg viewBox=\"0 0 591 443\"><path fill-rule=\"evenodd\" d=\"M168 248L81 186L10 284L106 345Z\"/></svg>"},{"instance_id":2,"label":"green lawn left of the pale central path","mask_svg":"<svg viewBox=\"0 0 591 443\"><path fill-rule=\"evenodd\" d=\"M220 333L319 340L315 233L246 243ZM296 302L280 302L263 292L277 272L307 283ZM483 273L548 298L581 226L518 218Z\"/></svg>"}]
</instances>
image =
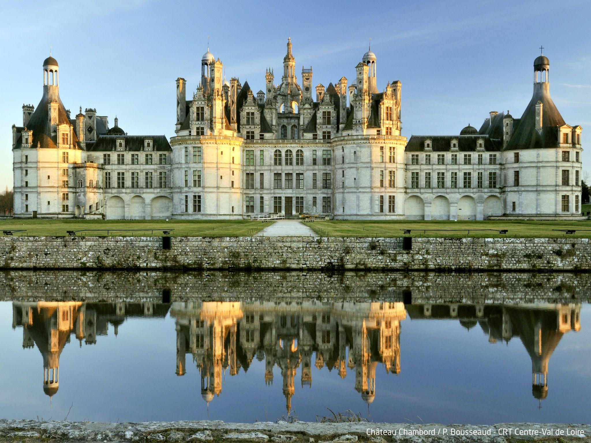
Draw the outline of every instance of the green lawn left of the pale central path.
<instances>
[{"instance_id":1,"label":"green lawn left of the pale central path","mask_svg":"<svg viewBox=\"0 0 591 443\"><path fill-rule=\"evenodd\" d=\"M174 229L171 236L240 237L250 236L268 223L249 220L0 220L0 230L26 229L14 235L67 236L68 230L114 229L109 236L161 236L162 230L150 233L150 229ZM133 229L133 231L117 231ZM79 232L77 235L106 236L106 232Z\"/></svg>"}]
</instances>

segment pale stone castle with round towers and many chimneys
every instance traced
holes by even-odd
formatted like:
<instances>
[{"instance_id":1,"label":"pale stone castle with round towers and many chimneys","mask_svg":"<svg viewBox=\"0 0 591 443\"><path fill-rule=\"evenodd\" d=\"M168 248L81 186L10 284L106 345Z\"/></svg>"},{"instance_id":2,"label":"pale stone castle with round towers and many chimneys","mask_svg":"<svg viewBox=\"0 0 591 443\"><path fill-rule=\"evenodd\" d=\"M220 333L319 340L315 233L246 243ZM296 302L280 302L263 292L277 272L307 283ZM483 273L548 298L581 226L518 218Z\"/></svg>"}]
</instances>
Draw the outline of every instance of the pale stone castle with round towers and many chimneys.
<instances>
[{"instance_id":1,"label":"pale stone castle with round towers and many chimneys","mask_svg":"<svg viewBox=\"0 0 591 443\"><path fill-rule=\"evenodd\" d=\"M317 213L335 219L483 220L576 217L581 126L550 97L548 58L534 61L521 118L491 112L459 135L401 135L401 82L379 92L371 50L352 84L296 76L291 40L281 83L223 77L207 52L187 97L177 79L175 135L130 136L86 109L71 118L59 67L43 63L41 102L12 126L16 217L244 219ZM313 95L315 93L315 96Z\"/></svg>"}]
</instances>

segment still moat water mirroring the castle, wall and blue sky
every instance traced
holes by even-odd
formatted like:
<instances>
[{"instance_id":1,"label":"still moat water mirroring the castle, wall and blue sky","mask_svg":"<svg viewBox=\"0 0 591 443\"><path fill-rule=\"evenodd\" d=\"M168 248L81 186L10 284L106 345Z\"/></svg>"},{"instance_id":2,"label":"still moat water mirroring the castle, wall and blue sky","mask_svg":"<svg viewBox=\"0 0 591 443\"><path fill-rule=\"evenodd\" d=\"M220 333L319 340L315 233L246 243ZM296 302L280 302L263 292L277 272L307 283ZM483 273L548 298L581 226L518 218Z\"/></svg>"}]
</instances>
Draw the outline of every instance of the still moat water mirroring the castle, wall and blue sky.
<instances>
[{"instance_id":1,"label":"still moat water mirroring the castle, wall and blue sky","mask_svg":"<svg viewBox=\"0 0 591 443\"><path fill-rule=\"evenodd\" d=\"M544 279L6 272L0 419L589 423L591 278Z\"/></svg>"}]
</instances>

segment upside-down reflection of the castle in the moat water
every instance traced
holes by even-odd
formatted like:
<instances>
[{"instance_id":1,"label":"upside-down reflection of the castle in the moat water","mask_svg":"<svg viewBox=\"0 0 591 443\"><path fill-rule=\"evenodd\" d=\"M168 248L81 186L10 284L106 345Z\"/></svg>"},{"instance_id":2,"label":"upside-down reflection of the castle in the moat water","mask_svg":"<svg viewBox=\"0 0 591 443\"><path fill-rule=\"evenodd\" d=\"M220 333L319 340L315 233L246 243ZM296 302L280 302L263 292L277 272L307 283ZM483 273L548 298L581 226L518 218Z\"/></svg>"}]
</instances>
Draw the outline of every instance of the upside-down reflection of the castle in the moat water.
<instances>
[{"instance_id":1,"label":"upside-down reflection of the castle in the moat water","mask_svg":"<svg viewBox=\"0 0 591 443\"><path fill-rule=\"evenodd\" d=\"M111 324L115 334L127 317L165 317L170 304L14 302L12 327L22 326L24 348L35 345L43 356L43 390L59 387L61 351L74 335L82 346L95 344ZM210 402L222 392L222 373L247 370L252 360L265 360L265 382L281 370L287 409L291 409L296 372L301 386L311 386L314 366L336 369L341 377L355 370L355 389L371 403L376 394L378 363L387 373L400 372L400 321L457 318L476 325L489 341L519 337L532 361L532 394L548 395L548 360L562 335L580 330L579 304L474 305L401 302L174 302L178 375L186 372L190 353L201 374L202 397Z\"/></svg>"}]
</instances>

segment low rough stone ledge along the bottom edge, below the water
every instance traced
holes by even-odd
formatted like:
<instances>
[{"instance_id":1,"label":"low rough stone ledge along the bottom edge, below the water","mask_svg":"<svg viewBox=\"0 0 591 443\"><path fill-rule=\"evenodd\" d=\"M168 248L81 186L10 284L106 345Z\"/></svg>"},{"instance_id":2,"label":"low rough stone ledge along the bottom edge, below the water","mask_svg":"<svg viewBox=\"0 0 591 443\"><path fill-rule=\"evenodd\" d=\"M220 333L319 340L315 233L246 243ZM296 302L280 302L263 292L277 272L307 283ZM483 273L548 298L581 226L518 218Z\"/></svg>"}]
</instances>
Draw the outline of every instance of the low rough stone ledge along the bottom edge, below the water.
<instances>
[{"instance_id":1,"label":"low rough stone ledge along the bottom edge, below the water","mask_svg":"<svg viewBox=\"0 0 591 443\"><path fill-rule=\"evenodd\" d=\"M589 425L496 424L414 425L392 423L307 423L222 421L92 423L0 420L0 441L69 442L589 442Z\"/></svg>"}]
</instances>

